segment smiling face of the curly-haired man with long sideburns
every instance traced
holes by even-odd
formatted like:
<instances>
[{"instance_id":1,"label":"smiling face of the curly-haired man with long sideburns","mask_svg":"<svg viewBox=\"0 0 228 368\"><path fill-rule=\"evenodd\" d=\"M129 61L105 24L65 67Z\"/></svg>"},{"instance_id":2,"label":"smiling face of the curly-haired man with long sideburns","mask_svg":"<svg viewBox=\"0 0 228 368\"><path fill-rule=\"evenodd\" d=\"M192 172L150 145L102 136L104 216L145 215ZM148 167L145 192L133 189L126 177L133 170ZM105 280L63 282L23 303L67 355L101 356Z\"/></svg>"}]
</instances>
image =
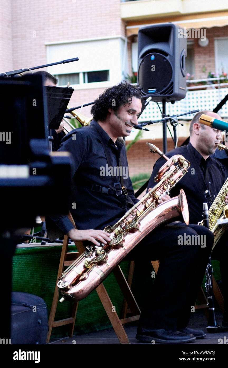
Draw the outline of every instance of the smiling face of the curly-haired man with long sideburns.
<instances>
[{"instance_id":1,"label":"smiling face of the curly-haired man with long sideburns","mask_svg":"<svg viewBox=\"0 0 228 368\"><path fill-rule=\"evenodd\" d=\"M126 106L120 106L117 111L109 109L111 114L109 127L115 137L127 137L130 135L133 125L138 124L141 107L141 100L133 96L130 105L126 103Z\"/></svg>"}]
</instances>

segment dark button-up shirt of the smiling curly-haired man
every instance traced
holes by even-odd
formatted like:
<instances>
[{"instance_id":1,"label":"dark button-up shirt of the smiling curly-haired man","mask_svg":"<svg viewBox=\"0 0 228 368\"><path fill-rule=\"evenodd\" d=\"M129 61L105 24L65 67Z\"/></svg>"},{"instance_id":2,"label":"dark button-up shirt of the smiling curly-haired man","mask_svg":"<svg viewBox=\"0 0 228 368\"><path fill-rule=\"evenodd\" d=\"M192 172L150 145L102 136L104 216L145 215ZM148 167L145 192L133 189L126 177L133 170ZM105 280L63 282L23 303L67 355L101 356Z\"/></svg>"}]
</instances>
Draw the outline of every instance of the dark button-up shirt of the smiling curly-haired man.
<instances>
[{"instance_id":1,"label":"dark button-up shirt of the smiling curly-haired man","mask_svg":"<svg viewBox=\"0 0 228 368\"><path fill-rule=\"evenodd\" d=\"M113 172L113 178L108 175L110 166L101 140L107 148L110 166L119 167L121 163L124 168L122 184L128 192L127 202L131 202L131 205L126 204L123 195L92 190L93 185L97 185L113 191L115 189L113 184L120 182L118 171ZM114 143L95 120L92 120L90 126L77 128L67 134L61 141L59 151L68 151L73 157L72 207L69 210L77 229L103 229L107 225L113 225L128 208L138 202L128 176L124 144L118 140ZM73 228L67 216L51 216L51 218L64 233Z\"/></svg>"}]
</instances>

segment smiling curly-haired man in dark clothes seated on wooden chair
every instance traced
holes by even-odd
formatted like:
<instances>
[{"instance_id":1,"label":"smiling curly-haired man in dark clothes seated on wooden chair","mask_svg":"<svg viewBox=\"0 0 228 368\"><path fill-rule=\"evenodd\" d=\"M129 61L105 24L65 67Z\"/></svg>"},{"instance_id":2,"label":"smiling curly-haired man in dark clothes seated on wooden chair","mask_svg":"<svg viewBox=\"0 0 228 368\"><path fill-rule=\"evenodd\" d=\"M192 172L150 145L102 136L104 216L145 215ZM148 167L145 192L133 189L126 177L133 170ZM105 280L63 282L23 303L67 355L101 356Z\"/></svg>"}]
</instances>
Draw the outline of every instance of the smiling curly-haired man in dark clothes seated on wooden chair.
<instances>
[{"instance_id":1,"label":"smiling curly-haired man in dark clothes seated on wooden chair","mask_svg":"<svg viewBox=\"0 0 228 368\"><path fill-rule=\"evenodd\" d=\"M118 137L130 135L141 113L141 94L127 83L106 89L91 109L89 127L71 131L62 140L60 151L73 156L72 203L70 209L78 229L103 229L113 225L137 203L128 176L101 175L102 167L128 167L125 145ZM145 147L146 149L146 147ZM124 171L124 170L123 170ZM125 187L127 195L121 191ZM170 197L164 195L163 201ZM76 229L67 217L55 223L74 240ZM206 247L178 245L178 236L206 236ZM184 235L183 235L184 236ZM144 308L136 339L144 342L188 343L205 336L187 328L196 291L206 269L213 243L212 233L203 226L171 224L159 226L129 253L140 262L160 260L152 294ZM192 266L196 271L192 275Z\"/></svg>"}]
</instances>

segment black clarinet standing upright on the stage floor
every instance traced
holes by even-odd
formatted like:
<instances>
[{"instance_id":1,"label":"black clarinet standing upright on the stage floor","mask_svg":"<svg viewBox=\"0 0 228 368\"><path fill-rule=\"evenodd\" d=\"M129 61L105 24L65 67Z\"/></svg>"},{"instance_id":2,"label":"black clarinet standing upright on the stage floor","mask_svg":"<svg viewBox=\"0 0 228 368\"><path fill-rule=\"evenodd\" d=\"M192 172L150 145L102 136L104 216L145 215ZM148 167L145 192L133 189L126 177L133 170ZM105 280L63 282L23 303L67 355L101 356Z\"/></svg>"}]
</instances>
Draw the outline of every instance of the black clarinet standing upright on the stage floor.
<instances>
[{"instance_id":1,"label":"black clarinet standing upright on the stage floor","mask_svg":"<svg viewBox=\"0 0 228 368\"><path fill-rule=\"evenodd\" d=\"M203 204L203 226L210 228L209 226L209 216L208 216L208 206L207 203ZM207 332L216 333L220 331L220 326L216 322L216 317L214 313L214 293L213 293L213 268L211 262L211 256L206 268L206 295L207 295L207 305L208 305L208 324Z\"/></svg>"}]
</instances>

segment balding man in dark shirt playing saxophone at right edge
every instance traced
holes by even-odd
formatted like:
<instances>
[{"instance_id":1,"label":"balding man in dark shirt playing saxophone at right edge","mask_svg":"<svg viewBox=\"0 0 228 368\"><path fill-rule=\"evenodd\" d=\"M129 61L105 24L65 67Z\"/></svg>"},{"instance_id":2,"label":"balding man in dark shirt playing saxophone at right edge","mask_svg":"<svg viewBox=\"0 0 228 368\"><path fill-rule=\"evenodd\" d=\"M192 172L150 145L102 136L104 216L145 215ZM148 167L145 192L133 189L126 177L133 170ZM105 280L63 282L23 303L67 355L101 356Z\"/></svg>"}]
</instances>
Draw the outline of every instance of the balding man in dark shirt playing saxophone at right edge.
<instances>
[{"instance_id":1,"label":"balding man in dark shirt playing saxophone at right edge","mask_svg":"<svg viewBox=\"0 0 228 368\"><path fill-rule=\"evenodd\" d=\"M197 113L190 123L190 142L173 149L166 153L166 156L183 155L185 159L190 161L190 169L188 173L176 184L170 191L170 196L173 197L183 188L187 201L190 215L190 223L197 224L202 221L203 203L208 203L208 208L217 197L218 192L226 180L225 169L221 163L212 158L216 151L216 143L221 140L221 131L211 128L207 125L199 123L199 118L202 114L206 114L217 119L220 116L210 111L201 111ZM155 185L154 177L163 161L158 159L154 165L148 188ZM228 197L225 197L225 202L228 203ZM224 290L224 297L227 300L227 265L228 265L228 244L217 244L212 252L212 258L220 260L220 271ZM228 314L225 312L223 325L228 327Z\"/></svg>"}]
</instances>

